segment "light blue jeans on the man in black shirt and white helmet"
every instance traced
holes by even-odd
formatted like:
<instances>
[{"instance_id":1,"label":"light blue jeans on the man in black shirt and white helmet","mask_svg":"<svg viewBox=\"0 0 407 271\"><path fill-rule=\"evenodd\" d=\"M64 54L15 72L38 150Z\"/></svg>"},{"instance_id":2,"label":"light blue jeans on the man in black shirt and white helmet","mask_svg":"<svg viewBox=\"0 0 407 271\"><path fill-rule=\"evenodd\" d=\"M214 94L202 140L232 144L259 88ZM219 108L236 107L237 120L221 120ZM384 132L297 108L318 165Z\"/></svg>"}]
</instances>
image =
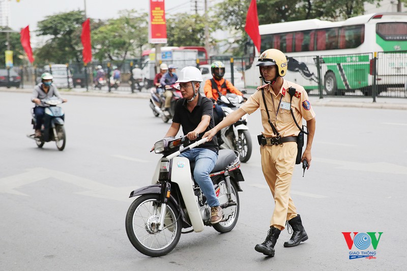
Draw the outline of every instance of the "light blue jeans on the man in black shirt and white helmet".
<instances>
[{"instance_id":1,"label":"light blue jeans on the man in black shirt and white helmet","mask_svg":"<svg viewBox=\"0 0 407 271\"><path fill-rule=\"evenodd\" d=\"M209 177L209 173L211 173L218 160L218 155L207 148L193 148L181 154L180 157L188 158L189 161L195 161L195 182L207 198L208 205L210 207L219 206L212 180Z\"/></svg>"}]
</instances>

